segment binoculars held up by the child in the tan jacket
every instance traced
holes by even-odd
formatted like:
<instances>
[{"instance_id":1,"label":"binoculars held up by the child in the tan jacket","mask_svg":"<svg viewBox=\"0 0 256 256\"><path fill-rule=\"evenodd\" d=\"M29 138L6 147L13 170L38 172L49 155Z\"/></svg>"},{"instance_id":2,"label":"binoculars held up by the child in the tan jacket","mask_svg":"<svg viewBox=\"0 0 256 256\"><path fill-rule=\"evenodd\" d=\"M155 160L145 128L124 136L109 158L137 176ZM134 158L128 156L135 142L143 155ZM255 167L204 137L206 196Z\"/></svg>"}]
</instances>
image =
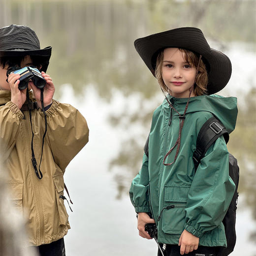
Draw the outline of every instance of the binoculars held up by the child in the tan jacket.
<instances>
[{"instance_id":1,"label":"binoculars held up by the child in the tan jacket","mask_svg":"<svg viewBox=\"0 0 256 256\"><path fill-rule=\"evenodd\" d=\"M40 71L32 66L25 66L23 68L18 66L12 66L8 68L6 75L10 73L20 74L20 83L18 85L19 90L24 90L28 87L29 80L32 80L33 84L38 88L42 89L46 85L46 80L43 78ZM6 80L7 81L7 80Z\"/></svg>"}]
</instances>

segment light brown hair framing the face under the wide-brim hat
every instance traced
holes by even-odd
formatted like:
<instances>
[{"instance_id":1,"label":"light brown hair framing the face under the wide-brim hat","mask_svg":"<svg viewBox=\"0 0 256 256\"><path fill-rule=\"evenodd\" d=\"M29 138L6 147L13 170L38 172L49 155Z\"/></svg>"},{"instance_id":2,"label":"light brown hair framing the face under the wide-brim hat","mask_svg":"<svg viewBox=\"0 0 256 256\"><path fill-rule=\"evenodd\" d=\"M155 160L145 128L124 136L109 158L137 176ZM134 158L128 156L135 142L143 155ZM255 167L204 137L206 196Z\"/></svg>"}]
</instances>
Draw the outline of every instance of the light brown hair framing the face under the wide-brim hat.
<instances>
[{"instance_id":1,"label":"light brown hair framing the face under the wide-brim hat","mask_svg":"<svg viewBox=\"0 0 256 256\"><path fill-rule=\"evenodd\" d=\"M182 53L185 55L185 61L189 63L192 67L197 67L199 62L199 56L197 56L192 51L178 48ZM162 63L163 63L163 51L164 49L159 53L157 58L157 64L155 69L155 76L160 84L161 89L163 92L169 93L168 87L164 84L162 79ZM195 78L195 84L194 84L194 95L204 95L207 94L207 84L208 84L208 74L206 70L206 66L203 63L202 59L200 60L199 66L198 66L198 73Z\"/></svg>"}]
</instances>

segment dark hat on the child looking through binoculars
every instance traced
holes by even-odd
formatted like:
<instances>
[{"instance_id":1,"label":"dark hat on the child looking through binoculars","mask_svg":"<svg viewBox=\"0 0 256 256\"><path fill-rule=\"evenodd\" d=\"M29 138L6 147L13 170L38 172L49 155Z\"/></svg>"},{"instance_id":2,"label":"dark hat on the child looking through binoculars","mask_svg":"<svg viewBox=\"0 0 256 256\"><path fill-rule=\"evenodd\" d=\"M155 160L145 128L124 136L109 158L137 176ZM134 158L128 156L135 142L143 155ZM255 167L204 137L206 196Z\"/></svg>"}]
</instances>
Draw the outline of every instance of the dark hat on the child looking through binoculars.
<instances>
[{"instance_id":1,"label":"dark hat on the child looking through binoculars","mask_svg":"<svg viewBox=\"0 0 256 256\"><path fill-rule=\"evenodd\" d=\"M10 25L0 29L0 57L39 56L42 60L41 71L46 72L52 54L52 47L40 49L40 42L35 32L20 25Z\"/></svg>"}]
</instances>

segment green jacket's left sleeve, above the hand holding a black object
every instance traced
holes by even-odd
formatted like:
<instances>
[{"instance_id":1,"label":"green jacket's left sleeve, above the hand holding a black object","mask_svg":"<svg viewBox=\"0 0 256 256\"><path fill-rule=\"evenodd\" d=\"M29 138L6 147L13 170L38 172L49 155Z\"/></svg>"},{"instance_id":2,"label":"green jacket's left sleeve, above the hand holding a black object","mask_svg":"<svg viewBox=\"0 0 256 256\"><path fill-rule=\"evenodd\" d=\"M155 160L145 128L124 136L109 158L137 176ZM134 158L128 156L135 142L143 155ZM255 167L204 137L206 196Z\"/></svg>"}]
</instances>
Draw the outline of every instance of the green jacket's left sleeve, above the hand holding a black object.
<instances>
[{"instance_id":1,"label":"green jacket's left sleeve, above the hand holding a black object","mask_svg":"<svg viewBox=\"0 0 256 256\"><path fill-rule=\"evenodd\" d=\"M135 208L135 212L146 212L150 213L149 207L149 171L148 171L148 157L144 154L142 160L142 167L133 179L129 196L132 205Z\"/></svg>"}]
</instances>

